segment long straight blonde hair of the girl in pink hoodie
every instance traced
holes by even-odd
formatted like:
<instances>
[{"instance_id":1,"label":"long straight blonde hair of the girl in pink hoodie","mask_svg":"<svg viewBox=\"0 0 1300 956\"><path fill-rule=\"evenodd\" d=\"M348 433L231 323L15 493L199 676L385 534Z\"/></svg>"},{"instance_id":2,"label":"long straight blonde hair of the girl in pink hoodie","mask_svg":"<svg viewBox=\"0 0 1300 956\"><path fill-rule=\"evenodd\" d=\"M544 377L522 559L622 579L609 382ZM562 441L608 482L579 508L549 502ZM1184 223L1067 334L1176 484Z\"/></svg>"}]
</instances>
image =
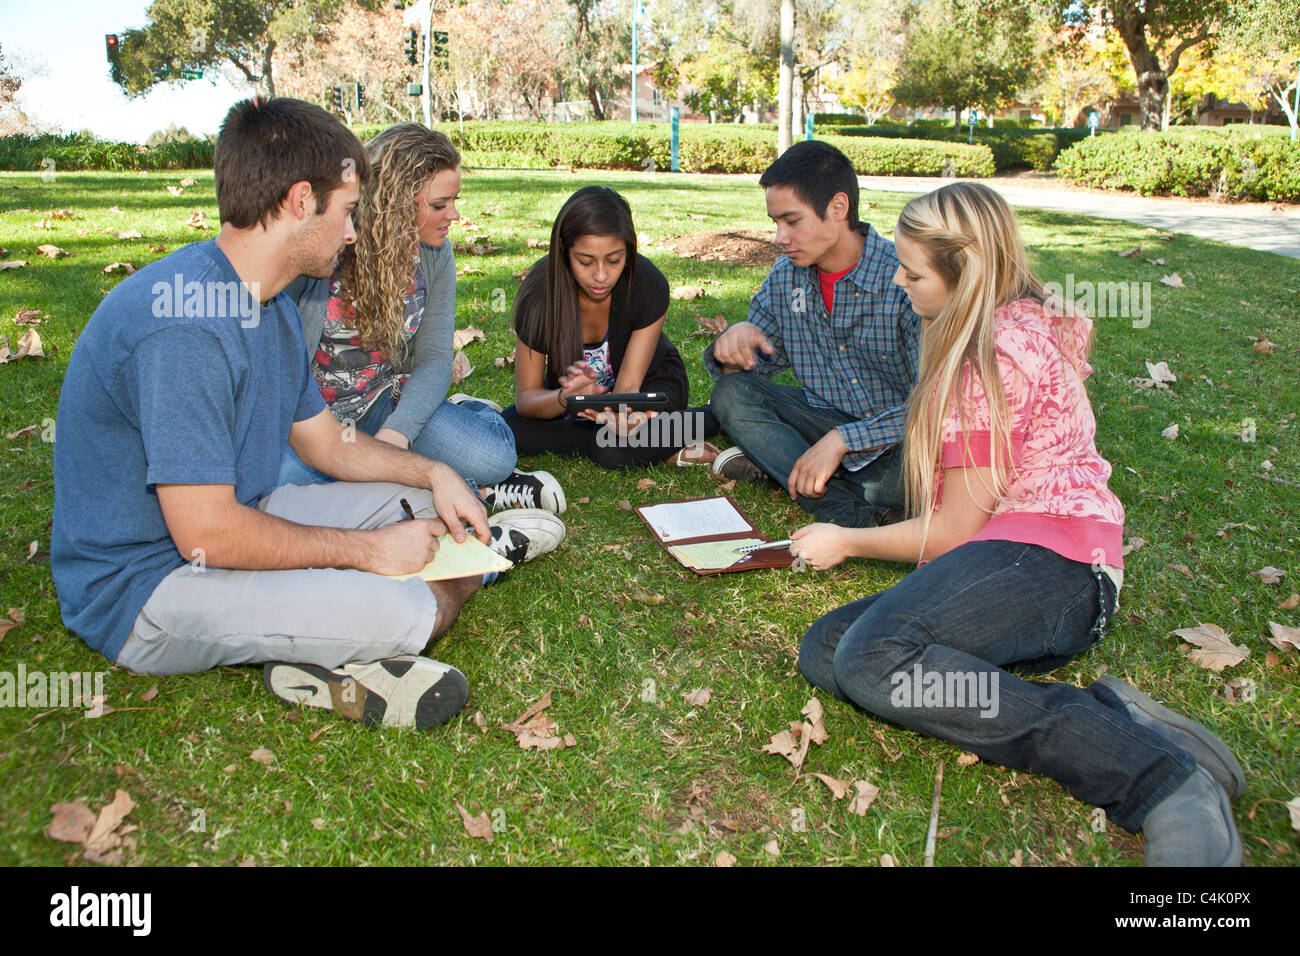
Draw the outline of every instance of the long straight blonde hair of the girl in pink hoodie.
<instances>
[{"instance_id":1,"label":"long straight blonde hair of the girl in pink hoodie","mask_svg":"<svg viewBox=\"0 0 1300 956\"><path fill-rule=\"evenodd\" d=\"M966 399L980 389L989 408L991 490L1000 498L1011 484L1010 415L997 365L993 312L1017 299L1043 303L1045 295L1030 271L1015 213L983 183L954 182L916 196L900 213L897 233L922 247L949 290L948 302L920 338L920 368L907 399L904 433L907 512L922 519L923 553L937 496L944 419L956 403L967 432ZM1054 303L1049 311L1054 323L1074 315ZM1063 355L1071 362L1087 359L1091 341L1075 355L1072 330L1056 330Z\"/></svg>"}]
</instances>

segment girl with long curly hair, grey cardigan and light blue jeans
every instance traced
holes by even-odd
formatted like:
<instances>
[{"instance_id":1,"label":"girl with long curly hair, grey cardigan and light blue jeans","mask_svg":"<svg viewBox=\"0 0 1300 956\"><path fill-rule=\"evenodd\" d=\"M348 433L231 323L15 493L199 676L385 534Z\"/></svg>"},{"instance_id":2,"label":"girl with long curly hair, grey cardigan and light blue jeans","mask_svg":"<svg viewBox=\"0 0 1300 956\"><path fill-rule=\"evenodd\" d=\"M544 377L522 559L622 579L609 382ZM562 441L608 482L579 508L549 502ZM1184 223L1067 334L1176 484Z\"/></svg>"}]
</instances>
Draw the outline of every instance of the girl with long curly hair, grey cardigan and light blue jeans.
<instances>
[{"instance_id":1,"label":"girl with long curly hair, grey cardigan and light blue jeans","mask_svg":"<svg viewBox=\"0 0 1300 956\"><path fill-rule=\"evenodd\" d=\"M460 153L420 124L399 124L367 146L372 176L328 280L286 290L321 397L343 423L446 462L489 507L564 510L546 472L515 471L515 438L500 408L447 398L455 332L456 263L448 241L460 219ZM290 451L281 484L326 480Z\"/></svg>"}]
</instances>

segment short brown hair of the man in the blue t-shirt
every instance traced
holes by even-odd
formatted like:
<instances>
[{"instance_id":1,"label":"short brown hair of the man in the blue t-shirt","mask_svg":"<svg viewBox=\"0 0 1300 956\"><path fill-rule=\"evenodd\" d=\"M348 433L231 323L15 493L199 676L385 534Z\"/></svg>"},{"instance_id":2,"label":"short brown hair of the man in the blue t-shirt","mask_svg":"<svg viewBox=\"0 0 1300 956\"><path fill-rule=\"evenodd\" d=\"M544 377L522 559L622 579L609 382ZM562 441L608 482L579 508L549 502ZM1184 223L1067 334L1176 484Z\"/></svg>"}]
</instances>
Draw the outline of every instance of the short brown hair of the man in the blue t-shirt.
<instances>
[{"instance_id":1,"label":"short brown hair of the man in the blue t-shirt","mask_svg":"<svg viewBox=\"0 0 1300 956\"><path fill-rule=\"evenodd\" d=\"M217 135L213 172L221 221L235 229L268 226L295 182L308 182L321 213L344 182L365 182L361 142L317 105L281 96L240 100Z\"/></svg>"}]
</instances>

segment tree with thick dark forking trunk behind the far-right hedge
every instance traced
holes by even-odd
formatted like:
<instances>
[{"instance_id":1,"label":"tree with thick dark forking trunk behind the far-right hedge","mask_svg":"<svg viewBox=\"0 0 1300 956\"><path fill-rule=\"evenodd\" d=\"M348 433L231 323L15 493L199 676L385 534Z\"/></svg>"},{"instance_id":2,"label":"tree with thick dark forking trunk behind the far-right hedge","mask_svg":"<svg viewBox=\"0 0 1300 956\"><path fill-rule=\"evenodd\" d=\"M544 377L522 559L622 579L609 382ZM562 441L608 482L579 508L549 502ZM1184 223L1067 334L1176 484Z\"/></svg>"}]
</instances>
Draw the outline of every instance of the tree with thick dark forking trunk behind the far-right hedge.
<instances>
[{"instance_id":1,"label":"tree with thick dark forking trunk behind the far-right hedge","mask_svg":"<svg viewBox=\"0 0 1300 956\"><path fill-rule=\"evenodd\" d=\"M1169 78L1183 53L1213 36L1231 5L1227 0L1056 0L1054 9L1071 22L1114 27L1138 78L1141 127L1156 130L1167 125Z\"/></svg>"}]
</instances>

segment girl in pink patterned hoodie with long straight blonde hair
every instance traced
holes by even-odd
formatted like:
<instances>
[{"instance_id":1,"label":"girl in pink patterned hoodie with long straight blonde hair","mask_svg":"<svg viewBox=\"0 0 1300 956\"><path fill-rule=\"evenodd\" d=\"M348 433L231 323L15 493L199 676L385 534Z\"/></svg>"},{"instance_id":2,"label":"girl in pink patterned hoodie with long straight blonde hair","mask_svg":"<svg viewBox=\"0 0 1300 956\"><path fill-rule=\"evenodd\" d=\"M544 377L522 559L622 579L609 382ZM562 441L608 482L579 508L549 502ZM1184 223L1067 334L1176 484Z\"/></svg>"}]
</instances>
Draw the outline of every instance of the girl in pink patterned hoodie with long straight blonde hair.
<instances>
[{"instance_id":1,"label":"girl in pink patterned hoodie with long straight blonde hair","mask_svg":"<svg viewBox=\"0 0 1300 956\"><path fill-rule=\"evenodd\" d=\"M816 570L916 561L894 587L809 628L800 670L863 710L987 763L1044 774L1145 835L1148 865L1239 865L1242 767L1210 731L1114 675L1044 674L1101 640L1123 581L1124 511L1097 453L1084 380L1092 321L1049 302L1015 216L982 183L909 202L898 272L923 319L907 403L910 519L811 524Z\"/></svg>"}]
</instances>

